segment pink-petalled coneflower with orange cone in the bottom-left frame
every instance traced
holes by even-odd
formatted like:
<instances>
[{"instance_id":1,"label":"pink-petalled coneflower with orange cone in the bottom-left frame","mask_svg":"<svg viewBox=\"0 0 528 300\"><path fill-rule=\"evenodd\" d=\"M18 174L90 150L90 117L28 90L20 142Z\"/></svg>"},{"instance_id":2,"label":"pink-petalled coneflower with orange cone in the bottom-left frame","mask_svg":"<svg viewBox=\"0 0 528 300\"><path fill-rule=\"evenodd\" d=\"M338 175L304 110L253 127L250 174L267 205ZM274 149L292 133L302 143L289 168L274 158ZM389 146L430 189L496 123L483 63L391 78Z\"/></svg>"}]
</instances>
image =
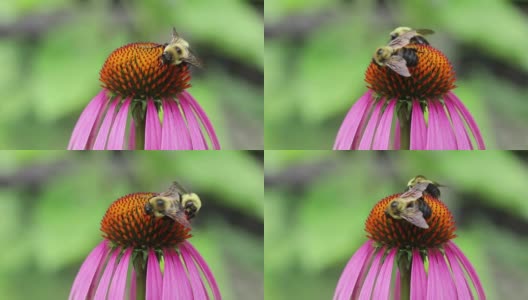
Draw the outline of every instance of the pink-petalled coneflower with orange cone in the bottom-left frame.
<instances>
[{"instance_id":1,"label":"pink-petalled coneflower with orange cone in the bottom-left frame","mask_svg":"<svg viewBox=\"0 0 528 300\"><path fill-rule=\"evenodd\" d=\"M180 201L174 190L130 194L112 203L101 221L105 240L82 264L70 300L207 300L210 294L222 299L207 263L187 241L191 214L179 207L180 223L156 216L152 210L158 208L148 207L153 198Z\"/></svg>"}]
</instances>

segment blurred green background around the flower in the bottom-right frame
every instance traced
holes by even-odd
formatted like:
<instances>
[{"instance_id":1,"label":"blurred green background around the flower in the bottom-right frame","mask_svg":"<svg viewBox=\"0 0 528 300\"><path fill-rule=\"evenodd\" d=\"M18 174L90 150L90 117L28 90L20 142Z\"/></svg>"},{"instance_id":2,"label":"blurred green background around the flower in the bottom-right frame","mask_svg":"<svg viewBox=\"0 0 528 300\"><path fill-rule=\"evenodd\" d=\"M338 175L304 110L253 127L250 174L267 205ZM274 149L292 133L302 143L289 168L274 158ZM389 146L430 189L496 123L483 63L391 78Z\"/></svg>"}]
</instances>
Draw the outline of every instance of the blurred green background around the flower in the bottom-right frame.
<instances>
[{"instance_id":1,"label":"blurred green background around the flower in the bottom-right frame","mask_svg":"<svg viewBox=\"0 0 528 300\"><path fill-rule=\"evenodd\" d=\"M266 299L331 299L375 203L425 175L447 187L488 299L528 294L528 152L266 151Z\"/></svg>"}]
</instances>

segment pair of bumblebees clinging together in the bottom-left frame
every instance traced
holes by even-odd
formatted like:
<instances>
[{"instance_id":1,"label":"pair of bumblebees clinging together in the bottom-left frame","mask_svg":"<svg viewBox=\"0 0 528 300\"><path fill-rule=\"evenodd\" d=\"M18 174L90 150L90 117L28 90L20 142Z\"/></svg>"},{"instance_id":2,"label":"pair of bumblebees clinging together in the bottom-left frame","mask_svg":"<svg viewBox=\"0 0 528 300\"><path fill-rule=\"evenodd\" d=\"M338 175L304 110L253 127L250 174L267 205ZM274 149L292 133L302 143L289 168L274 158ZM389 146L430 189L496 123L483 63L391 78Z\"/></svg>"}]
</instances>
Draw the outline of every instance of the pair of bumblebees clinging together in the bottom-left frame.
<instances>
[{"instance_id":1,"label":"pair of bumblebees clinging together in the bottom-left frame","mask_svg":"<svg viewBox=\"0 0 528 300\"><path fill-rule=\"evenodd\" d=\"M145 204L145 213L155 218L169 217L174 221L190 227L202 201L195 193L187 192L179 183L173 182L171 187L157 196L150 198Z\"/></svg>"}]
</instances>

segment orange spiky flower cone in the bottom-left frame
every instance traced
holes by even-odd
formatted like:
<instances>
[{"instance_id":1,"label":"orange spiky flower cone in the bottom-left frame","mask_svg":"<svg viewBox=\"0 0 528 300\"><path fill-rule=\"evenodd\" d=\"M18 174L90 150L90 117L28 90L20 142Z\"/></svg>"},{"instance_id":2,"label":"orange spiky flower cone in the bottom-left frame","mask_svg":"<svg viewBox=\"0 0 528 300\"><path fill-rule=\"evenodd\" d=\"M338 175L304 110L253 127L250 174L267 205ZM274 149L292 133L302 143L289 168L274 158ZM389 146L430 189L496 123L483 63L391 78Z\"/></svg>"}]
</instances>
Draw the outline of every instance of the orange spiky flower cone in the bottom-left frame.
<instances>
[{"instance_id":1,"label":"orange spiky flower cone in the bottom-left frame","mask_svg":"<svg viewBox=\"0 0 528 300\"><path fill-rule=\"evenodd\" d=\"M191 237L191 229L168 217L145 212L145 204L157 193L123 196L108 208L101 221L103 237L121 247L134 249L173 247Z\"/></svg>"}]
</instances>

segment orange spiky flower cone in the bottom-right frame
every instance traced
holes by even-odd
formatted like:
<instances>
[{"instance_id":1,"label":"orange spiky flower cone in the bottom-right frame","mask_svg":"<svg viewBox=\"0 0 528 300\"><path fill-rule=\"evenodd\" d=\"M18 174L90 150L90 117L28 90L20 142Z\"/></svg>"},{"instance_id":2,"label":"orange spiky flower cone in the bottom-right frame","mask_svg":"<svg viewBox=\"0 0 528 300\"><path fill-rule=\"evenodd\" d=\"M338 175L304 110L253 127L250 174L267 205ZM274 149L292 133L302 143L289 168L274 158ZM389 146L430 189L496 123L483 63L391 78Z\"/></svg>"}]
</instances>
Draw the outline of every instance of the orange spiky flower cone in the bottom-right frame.
<instances>
[{"instance_id":1,"label":"orange spiky flower cone in the bottom-right frame","mask_svg":"<svg viewBox=\"0 0 528 300\"><path fill-rule=\"evenodd\" d=\"M424 249L441 246L456 237L453 215L442 201L428 194L423 199L432 211L425 219L429 228L422 229L404 219L388 216L385 210L400 195L394 194L376 203L365 222L369 239L389 247Z\"/></svg>"}]
</instances>

